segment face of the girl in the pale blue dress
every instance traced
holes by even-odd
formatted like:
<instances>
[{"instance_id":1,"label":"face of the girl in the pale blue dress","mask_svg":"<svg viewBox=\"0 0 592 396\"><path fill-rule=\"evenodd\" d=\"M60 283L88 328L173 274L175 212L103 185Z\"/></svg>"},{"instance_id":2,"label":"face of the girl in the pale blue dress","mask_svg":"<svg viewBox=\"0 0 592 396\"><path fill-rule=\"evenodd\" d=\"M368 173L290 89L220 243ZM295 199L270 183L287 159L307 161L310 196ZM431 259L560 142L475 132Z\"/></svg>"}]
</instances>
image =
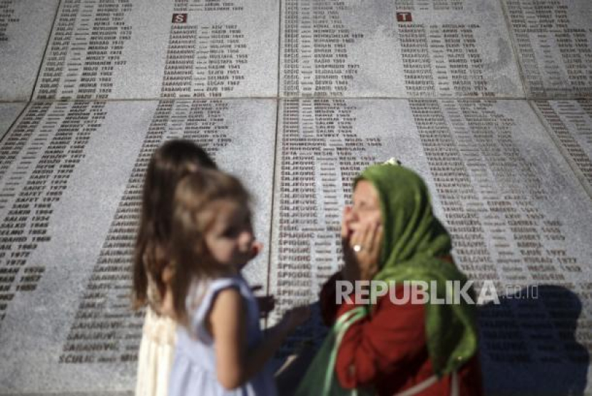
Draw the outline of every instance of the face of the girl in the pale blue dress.
<instances>
[{"instance_id":1,"label":"face of the girl in the pale blue dress","mask_svg":"<svg viewBox=\"0 0 592 396\"><path fill-rule=\"evenodd\" d=\"M255 241L249 208L230 199L216 202L213 223L205 233L205 244L215 261L240 269L252 257Z\"/></svg>"}]
</instances>

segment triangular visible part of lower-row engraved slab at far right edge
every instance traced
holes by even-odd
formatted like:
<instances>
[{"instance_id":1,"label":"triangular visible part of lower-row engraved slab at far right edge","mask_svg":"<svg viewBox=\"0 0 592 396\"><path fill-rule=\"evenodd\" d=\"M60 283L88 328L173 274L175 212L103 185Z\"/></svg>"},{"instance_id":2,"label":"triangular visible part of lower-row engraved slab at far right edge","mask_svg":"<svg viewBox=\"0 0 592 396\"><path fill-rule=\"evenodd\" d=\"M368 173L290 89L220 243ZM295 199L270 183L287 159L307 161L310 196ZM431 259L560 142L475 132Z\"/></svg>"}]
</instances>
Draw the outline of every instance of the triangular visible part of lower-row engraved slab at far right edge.
<instances>
[{"instance_id":1,"label":"triangular visible part of lower-row engraved slab at far right edge","mask_svg":"<svg viewBox=\"0 0 592 396\"><path fill-rule=\"evenodd\" d=\"M532 103L592 197L592 100L535 100Z\"/></svg>"}]
</instances>

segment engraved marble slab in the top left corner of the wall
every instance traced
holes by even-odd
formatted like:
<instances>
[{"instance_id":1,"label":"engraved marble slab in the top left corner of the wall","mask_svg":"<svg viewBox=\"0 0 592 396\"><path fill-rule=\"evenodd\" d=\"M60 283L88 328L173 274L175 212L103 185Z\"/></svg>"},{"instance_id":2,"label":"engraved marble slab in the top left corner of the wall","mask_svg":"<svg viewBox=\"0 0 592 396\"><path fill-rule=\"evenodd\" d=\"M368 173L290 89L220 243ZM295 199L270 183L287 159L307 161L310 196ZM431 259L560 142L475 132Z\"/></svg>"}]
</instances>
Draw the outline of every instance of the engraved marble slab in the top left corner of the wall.
<instances>
[{"instance_id":1,"label":"engraved marble slab in the top left corner of the wall","mask_svg":"<svg viewBox=\"0 0 592 396\"><path fill-rule=\"evenodd\" d=\"M58 0L0 0L0 101L29 100Z\"/></svg>"}]
</instances>

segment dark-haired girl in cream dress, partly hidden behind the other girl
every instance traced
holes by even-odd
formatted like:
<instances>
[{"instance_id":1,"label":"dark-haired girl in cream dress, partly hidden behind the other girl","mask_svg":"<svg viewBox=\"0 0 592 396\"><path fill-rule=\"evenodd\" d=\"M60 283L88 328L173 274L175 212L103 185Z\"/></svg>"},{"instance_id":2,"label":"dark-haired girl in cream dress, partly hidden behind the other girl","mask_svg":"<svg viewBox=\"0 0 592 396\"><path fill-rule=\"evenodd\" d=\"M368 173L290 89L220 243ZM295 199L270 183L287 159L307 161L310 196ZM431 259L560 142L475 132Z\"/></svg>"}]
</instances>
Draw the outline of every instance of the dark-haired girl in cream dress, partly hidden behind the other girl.
<instances>
[{"instance_id":1,"label":"dark-haired girl in cream dress, partly hidden behind the other girl","mask_svg":"<svg viewBox=\"0 0 592 396\"><path fill-rule=\"evenodd\" d=\"M170 140L155 151L146 170L142 212L133 259L133 306L146 308L136 396L166 396L175 350L176 323L170 293L170 218L178 181L214 162L193 142Z\"/></svg>"}]
</instances>

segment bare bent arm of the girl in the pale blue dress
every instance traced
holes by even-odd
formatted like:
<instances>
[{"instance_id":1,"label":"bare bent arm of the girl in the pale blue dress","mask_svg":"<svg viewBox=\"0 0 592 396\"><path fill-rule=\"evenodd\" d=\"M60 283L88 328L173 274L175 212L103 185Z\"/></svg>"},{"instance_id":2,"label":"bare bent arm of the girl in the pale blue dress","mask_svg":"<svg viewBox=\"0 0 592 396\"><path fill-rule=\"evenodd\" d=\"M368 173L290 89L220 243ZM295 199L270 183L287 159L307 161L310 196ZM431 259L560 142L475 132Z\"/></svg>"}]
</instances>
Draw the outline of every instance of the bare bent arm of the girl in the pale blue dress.
<instances>
[{"instance_id":1,"label":"bare bent arm of the girl in the pale blue dress","mask_svg":"<svg viewBox=\"0 0 592 396\"><path fill-rule=\"evenodd\" d=\"M260 372L286 336L308 316L307 308L290 311L259 345L247 351L245 311L243 298L235 288L220 291L210 311L218 382L228 390Z\"/></svg>"}]
</instances>

